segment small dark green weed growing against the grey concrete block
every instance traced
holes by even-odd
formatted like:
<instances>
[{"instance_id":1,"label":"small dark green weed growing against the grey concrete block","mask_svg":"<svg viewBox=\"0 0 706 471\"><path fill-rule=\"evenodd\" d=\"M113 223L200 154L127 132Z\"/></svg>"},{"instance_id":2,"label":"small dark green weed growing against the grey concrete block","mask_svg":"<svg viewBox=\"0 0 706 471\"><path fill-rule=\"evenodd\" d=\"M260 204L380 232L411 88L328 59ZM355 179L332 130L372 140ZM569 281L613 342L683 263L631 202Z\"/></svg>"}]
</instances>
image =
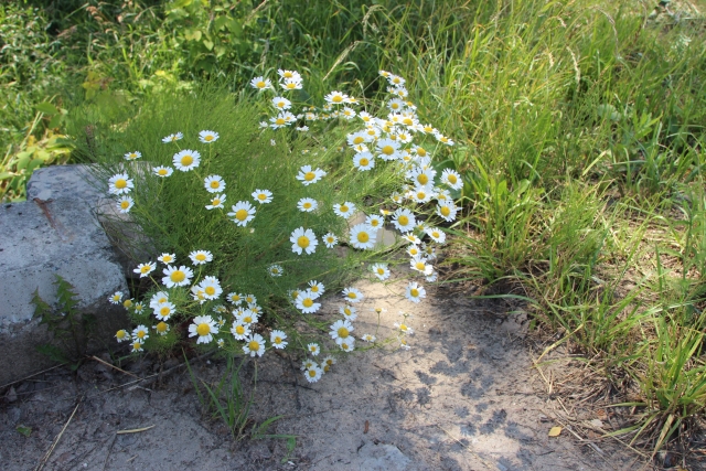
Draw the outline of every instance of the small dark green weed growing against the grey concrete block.
<instances>
[{"instance_id":1,"label":"small dark green weed growing against the grey concrete block","mask_svg":"<svg viewBox=\"0 0 706 471\"><path fill-rule=\"evenodd\" d=\"M52 333L53 343L38 346L38 351L55 362L69 363L76 370L86 354L88 341L95 330L95 317L81 313L74 287L56 275L56 303L47 304L39 295L32 296L34 317Z\"/></svg>"}]
</instances>

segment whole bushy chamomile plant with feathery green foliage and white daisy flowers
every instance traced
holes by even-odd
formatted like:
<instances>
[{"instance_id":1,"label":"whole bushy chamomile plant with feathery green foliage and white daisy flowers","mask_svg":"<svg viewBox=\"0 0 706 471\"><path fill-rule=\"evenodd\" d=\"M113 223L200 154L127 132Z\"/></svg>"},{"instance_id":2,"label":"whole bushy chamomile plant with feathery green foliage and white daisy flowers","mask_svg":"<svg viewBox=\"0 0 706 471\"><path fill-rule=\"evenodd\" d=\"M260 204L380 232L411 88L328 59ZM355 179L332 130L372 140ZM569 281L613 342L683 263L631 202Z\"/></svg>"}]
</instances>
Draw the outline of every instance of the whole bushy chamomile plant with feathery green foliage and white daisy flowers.
<instances>
[{"instance_id":1,"label":"whole bushy chamomile plant with feathery green foliage and white daisy flowers","mask_svg":"<svg viewBox=\"0 0 706 471\"><path fill-rule=\"evenodd\" d=\"M458 212L449 192L460 175L432 164L452 140L421 124L402 77L381 75L382 103L331 90L319 107L302 104L293 71L255 77L253 96L238 100L213 89L153 98L120 131L139 156L129 161L113 149L117 131L106 131L99 175L142 234L122 243L163 250L136 257L133 271L152 288L126 306L133 327L118 341L133 352L184 343L250 357L298 350L306 379L319 381L334 355L377 341L356 338L366 297L350 282L361 266L381 282L391 277L378 244L385 226L414 254L400 302L424 302L424 285L436 280L427 247L446 240L439 227ZM311 321L327 303L341 304L329 309L341 315ZM295 329L301 319L319 335Z\"/></svg>"}]
</instances>

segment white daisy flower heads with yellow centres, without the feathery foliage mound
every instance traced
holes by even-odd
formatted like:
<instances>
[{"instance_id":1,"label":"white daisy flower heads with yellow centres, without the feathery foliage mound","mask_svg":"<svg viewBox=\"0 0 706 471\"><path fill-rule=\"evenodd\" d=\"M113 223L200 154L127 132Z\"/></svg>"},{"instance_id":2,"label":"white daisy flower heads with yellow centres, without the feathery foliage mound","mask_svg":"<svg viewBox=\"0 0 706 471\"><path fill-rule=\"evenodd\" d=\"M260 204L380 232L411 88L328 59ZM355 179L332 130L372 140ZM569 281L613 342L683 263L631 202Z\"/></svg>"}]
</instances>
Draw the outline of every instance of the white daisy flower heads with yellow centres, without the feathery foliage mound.
<instances>
[{"instance_id":1,"label":"white daisy flower heads with yellow centres, without the feathery foliage mound","mask_svg":"<svg viewBox=\"0 0 706 471\"><path fill-rule=\"evenodd\" d=\"M270 311L267 304L258 304L256 296L264 299L271 298L272 292L268 287L284 288L289 292L288 301L292 312L298 312L307 319L308 314L321 309L321 296L325 287L318 280L310 280L302 286L299 281L288 278L288 271L297 272L298 265L306 264L301 260L319 257L322 247L323 251L327 251L339 245L341 240L356 250L373 250L384 226L398 231L399 238L407 244L406 251L410 256L413 272L427 282L437 279L432 260L436 258L436 245L445 243L445 233L429 222L437 217L445 222L454 221L458 208L451 199L451 191L459 190L462 182L460 175L452 170L447 169L438 174L431 164L431 152L426 148L453 146L453 141L430 125L420 124L415 105L408 100L404 78L387 72L381 72L381 74L388 82L387 90L391 95L381 108L384 117L373 116L362 109L363 103L338 90L324 97L325 103L320 109L309 105L297 105L293 95L284 96L303 87L302 77L293 71L278 71L279 77L276 84L266 77L255 77L250 82L258 94L275 95L271 97L264 95L267 97L271 116L260 122L261 128L278 130L297 126L297 130L307 132L309 125L314 126L317 121L338 119L341 127L347 128L344 140L347 152L351 153L350 172L361 175L388 172L397 175L400 182L406 180L407 183L398 185L388 201L377 203L379 211L377 208L370 211L371 207L365 206L362 199L347 197L345 194L339 201L332 202L331 199L335 196L329 192L330 199L322 201L322 191L319 189L322 184L332 185L327 179L330 179L329 174L338 169L321 165L321 161L313 158L309 162L306 160L297 162L297 170L289 174L288 184L296 185L299 191L296 202L292 203L288 200L288 195L284 192L278 193L278 188L269 186L267 182L257 181L254 178L253 186L244 189L242 182L238 184L232 180L233 175L208 172L207 169L212 168L210 162L213 162L213 149L217 148L217 141L221 138L216 131L199 132L200 143L195 147L200 150L182 148L181 141L184 139L182 132L175 132L162 139L165 146L174 146L176 150L169 160L170 164L153 165L150 168L150 173L162 185L175 174L189 175L189 178L193 175L193 179L202 182L199 183L202 188L200 191L204 194L204 203L207 203L201 206L205 208L205 211L201 210L205 213L201 216L202 218L220 217L227 221L227 224L236 229L238 239L253 234L259 227L260 218L267 220L268 214L274 214L268 213L269 208L280 211L279 214L282 211L288 214L299 214L299 225L298 227L291 225L286 234L277 233L279 224L272 225L275 229L268 233L274 234L269 249L255 259L257 261L259 257L266 256L265 264L255 269L266 274L270 283L261 286L260 291L252 295L243 295L237 290L224 295L225 289L222 278L217 276L218 270L214 268L212 274L206 274L207 267L215 267L208 264L216 260L217 251L214 255L211 250L193 250L188 254L189 261L184 265L178 264L178 254L171 253L162 254L154 261L146 260L138 264L135 272L140 278L150 278L154 288L148 293L149 310L141 301L122 300L122 293L115 293L110 298L113 302L125 306L137 325L132 330L120 330L116 334L119 342L130 342L132 351L140 352L143 346L159 347L170 342L173 345L176 341L191 339L196 344L215 343L228 352L242 352L254 357L261 356L268 349L300 345L306 350L307 357L318 358L321 352L330 354L321 364L314 360L303 362L304 377L309 382L315 382L335 364L332 356L335 352L347 353L355 350L353 321L357 317L356 306L364 299L364 295L356 288L345 288L342 291L345 302L339 308L342 318L329 325L328 336L324 336L330 340L308 343L300 342L300 333L291 327L272 324L271 319L279 319L279 313ZM295 114L298 106L300 113ZM271 139L271 143L277 144L275 139ZM205 148L202 149L199 146ZM345 148L342 150L345 151ZM313 156L315 152L312 153ZM139 151L125 156L129 161L139 158L141 158ZM203 173L200 173L202 171ZM286 174L278 174L279 179L282 176L288 178ZM109 178L109 192L118 197L117 204L121 212L128 213L139 204L139 201L136 203L130 197L130 192L137 184L136 178L130 176L128 172L119 172ZM229 211L225 206L226 191L232 200L237 200L231 204ZM235 197L233 192L236 192ZM350 223L354 216L362 222ZM325 221L336 223L327 223L329 224L327 226L322 223ZM346 226L347 231L341 229ZM186 257L186 254L180 254L179 257L180 259ZM158 263L161 264L161 279L154 275ZM373 263L370 269L382 281L391 277L391 270L385 261ZM408 301L418 303L426 298L426 289L421 282L422 280L409 281L404 295ZM266 312L270 321L263 324L258 321ZM291 325L291 322L288 324ZM399 341L403 346L406 346L405 335L410 334L411 331L404 331L402 325L406 323L397 327L400 332ZM360 340L376 342L376 338L372 334L363 334Z\"/></svg>"}]
</instances>

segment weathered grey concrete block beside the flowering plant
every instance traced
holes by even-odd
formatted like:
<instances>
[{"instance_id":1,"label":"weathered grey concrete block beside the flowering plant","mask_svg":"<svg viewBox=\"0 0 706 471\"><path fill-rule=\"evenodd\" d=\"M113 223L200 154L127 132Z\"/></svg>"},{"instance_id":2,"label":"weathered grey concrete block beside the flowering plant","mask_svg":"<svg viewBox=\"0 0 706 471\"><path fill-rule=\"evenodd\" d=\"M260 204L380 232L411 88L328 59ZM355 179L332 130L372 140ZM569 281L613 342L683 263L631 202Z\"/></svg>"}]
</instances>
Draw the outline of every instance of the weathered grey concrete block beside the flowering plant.
<instances>
[{"instance_id":1,"label":"weathered grey concrete block beside the flowering plant","mask_svg":"<svg viewBox=\"0 0 706 471\"><path fill-rule=\"evenodd\" d=\"M87 176L83 165L38 170L28 201L0 207L0 385L52 365L35 350L51 339L32 319L31 299L39 289L44 301L55 302L55 275L74 286L81 312L96 317L94 349L127 324L124 308L108 301L128 287L94 211L106 195Z\"/></svg>"}]
</instances>

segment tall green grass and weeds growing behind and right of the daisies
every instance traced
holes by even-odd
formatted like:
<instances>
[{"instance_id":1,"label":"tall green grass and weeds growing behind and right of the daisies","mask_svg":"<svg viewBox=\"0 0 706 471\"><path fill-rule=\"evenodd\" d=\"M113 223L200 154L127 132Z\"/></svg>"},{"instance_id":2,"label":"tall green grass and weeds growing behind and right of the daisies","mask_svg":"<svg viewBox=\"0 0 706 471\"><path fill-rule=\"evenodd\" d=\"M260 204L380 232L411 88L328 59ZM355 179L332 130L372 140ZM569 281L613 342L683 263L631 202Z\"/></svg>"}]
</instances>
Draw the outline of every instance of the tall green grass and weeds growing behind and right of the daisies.
<instances>
[{"instance_id":1,"label":"tall green grass and weeds growing behind and right of the daisies","mask_svg":"<svg viewBox=\"0 0 706 471\"><path fill-rule=\"evenodd\" d=\"M618 402L641 398L619 431L633 443L673 447L703 415L706 50L691 2L32 4L0 11L17 25L0 56L14 64L0 81L3 199L66 160L88 122L73 110L141 129L164 115L126 117L135 105L204 79L239 92L292 68L312 96L339 84L371 98L389 69L457 141L435 156L466 182L448 227L457 278L523 287L537 329L599 357Z\"/></svg>"}]
</instances>

